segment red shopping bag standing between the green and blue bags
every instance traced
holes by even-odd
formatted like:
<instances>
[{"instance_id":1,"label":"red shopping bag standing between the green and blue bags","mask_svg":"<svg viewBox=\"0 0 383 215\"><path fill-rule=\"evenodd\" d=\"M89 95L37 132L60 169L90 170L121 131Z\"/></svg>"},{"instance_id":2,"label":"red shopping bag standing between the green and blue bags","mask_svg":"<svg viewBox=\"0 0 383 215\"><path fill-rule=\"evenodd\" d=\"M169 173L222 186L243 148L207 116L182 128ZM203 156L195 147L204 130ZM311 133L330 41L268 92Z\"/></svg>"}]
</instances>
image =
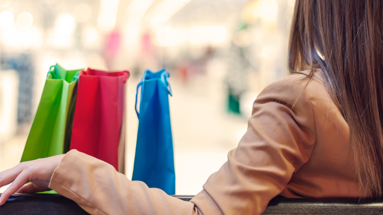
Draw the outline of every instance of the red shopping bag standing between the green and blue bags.
<instances>
[{"instance_id":1,"label":"red shopping bag standing between the green and blue bags","mask_svg":"<svg viewBox=\"0 0 383 215\"><path fill-rule=\"evenodd\" d=\"M125 83L129 72L81 71L70 149L103 160L124 173Z\"/></svg>"}]
</instances>

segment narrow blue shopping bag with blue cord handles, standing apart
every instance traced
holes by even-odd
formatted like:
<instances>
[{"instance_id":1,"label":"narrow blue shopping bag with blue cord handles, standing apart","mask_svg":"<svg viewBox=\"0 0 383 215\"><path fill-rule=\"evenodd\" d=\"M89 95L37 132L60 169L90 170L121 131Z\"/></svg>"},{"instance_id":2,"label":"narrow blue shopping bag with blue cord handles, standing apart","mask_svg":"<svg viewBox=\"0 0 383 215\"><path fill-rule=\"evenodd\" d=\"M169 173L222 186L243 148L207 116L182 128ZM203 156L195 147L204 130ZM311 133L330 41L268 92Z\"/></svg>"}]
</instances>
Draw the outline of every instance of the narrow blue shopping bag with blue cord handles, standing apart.
<instances>
[{"instance_id":1,"label":"narrow blue shopping bag with blue cord handles, standing apart","mask_svg":"<svg viewBox=\"0 0 383 215\"><path fill-rule=\"evenodd\" d=\"M147 70L137 85L139 123L132 180L143 181L172 195L175 194L175 173L168 96L172 96L172 91L168 77L166 70Z\"/></svg>"}]
</instances>

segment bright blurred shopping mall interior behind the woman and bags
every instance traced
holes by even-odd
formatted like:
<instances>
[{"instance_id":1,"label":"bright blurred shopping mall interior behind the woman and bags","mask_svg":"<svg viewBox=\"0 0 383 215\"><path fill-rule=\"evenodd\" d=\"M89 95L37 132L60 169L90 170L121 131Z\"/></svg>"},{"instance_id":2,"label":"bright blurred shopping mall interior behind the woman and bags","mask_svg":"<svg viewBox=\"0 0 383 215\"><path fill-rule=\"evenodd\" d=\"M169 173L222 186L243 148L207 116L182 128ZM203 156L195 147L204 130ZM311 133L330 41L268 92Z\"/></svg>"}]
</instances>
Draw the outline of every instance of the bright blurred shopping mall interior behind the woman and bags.
<instances>
[{"instance_id":1,"label":"bright blurred shopping mall interior behind the woman and bags","mask_svg":"<svg viewBox=\"0 0 383 215\"><path fill-rule=\"evenodd\" d=\"M129 70L127 176L136 85L167 68L176 193L196 194L246 132L252 102L288 75L294 0L0 0L0 171L21 158L47 71ZM4 187L0 192L4 191Z\"/></svg>"}]
</instances>

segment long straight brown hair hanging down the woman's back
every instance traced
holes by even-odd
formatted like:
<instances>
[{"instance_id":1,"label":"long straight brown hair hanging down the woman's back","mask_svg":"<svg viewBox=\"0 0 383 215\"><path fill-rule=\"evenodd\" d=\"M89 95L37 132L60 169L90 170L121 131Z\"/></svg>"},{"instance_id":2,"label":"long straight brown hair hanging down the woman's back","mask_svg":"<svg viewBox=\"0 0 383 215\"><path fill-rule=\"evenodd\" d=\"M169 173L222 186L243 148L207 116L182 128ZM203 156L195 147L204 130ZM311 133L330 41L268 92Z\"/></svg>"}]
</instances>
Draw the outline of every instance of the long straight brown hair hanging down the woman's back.
<instances>
[{"instance_id":1,"label":"long straight brown hair hanging down the woman's back","mask_svg":"<svg viewBox=\"0 0 383 215\"><path fill-rule=\"evenodd\" d=\"M360 186L383 194L383 1L296 0L288 67L322 68L350 127ZM321 56L322 55L322 56Z\"/></svg>"}]
</instances>

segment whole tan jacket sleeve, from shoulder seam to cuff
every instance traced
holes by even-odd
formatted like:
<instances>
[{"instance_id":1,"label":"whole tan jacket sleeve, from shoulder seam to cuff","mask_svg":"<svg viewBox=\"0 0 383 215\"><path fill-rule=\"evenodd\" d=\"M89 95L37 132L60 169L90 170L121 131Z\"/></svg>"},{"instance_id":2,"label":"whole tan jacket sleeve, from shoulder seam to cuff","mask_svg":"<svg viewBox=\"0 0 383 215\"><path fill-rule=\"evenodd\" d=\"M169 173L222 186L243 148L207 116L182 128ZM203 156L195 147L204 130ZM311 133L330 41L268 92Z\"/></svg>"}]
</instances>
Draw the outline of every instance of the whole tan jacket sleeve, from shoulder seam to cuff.
<instances>
[{"instance_id":1,"label":"whole tan jacket sleeve, from shoulder seam to cuff","mask_svg":"<svg viewBox=\"0 0 383 215\"><path fill-rule=\"evenodd\" d=\"M286 78L260 93L238 147L190 202L76 150L65 155L49 187L91 214L261 214L308 161L315 140L309 96L298 80Z\"/></svg>"}]
</instances>

